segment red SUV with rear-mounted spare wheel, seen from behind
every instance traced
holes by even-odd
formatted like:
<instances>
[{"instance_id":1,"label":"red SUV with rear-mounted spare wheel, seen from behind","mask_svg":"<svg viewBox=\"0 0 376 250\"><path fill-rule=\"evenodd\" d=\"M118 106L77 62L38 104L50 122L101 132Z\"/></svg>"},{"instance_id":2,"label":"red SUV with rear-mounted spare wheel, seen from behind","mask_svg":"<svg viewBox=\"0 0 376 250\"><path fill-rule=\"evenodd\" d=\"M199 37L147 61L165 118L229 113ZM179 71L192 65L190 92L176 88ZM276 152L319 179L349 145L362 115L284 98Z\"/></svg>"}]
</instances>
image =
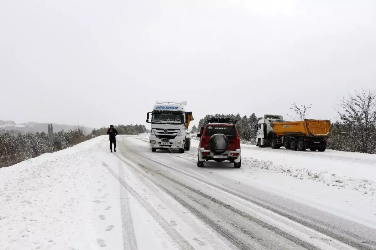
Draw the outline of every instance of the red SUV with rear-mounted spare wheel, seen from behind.
<instances>
[{"instance_id":1,"label":"red SUV with rear-mounted spare wheel, seen from behind","mask_svg":"<svg viewBox=\"0 0 376 250\"><path fill-rule=\"evenodd\" d=\"M197 167L203 167L204 161L230 161L235 168L241 166L241 148L238 130L233 119L212 117L205 128L201 128L200 146L197 152Z\"/></svg>"}]
</instances>

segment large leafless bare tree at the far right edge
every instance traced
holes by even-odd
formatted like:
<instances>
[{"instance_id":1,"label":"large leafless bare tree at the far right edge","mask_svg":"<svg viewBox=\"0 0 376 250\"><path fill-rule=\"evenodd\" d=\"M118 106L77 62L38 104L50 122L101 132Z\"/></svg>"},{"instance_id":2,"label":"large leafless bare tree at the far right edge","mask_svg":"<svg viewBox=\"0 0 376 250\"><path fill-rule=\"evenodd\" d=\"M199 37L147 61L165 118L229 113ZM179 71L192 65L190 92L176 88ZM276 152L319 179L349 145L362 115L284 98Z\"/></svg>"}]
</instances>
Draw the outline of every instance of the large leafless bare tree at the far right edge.
<instances>
[{"instance_id":1,"label":"large leafless bare tree at the far right edge","mask_svg":"<svg viewBox=\"0 0 376 250\"><path fill-rule=\"evenodd\" d=\"M376 153L376 90L356 90L339 100L337 113L348 128L354 151Z\"/></svg>"}]
</instances>

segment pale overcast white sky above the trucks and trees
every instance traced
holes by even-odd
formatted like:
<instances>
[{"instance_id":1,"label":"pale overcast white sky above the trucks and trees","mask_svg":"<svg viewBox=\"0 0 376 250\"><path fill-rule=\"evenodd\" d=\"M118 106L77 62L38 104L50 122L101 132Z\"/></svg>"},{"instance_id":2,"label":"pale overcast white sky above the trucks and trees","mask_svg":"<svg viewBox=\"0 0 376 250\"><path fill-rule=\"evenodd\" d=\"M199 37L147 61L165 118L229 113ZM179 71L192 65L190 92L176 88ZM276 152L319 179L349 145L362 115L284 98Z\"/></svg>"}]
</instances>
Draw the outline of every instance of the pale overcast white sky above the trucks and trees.
<instances>
[{"instance_id":1,"label":"pale overcast white sky above the trucks and trees","mask_svg":"<svg viewBox=\"0 0 376 250\"><path fill-rule=\"evenodd\" d=\"M376 1L0 0L0 85L16 122L147 124L157 99L333 120L376 88Z\"/></svg>"}]
</instances>

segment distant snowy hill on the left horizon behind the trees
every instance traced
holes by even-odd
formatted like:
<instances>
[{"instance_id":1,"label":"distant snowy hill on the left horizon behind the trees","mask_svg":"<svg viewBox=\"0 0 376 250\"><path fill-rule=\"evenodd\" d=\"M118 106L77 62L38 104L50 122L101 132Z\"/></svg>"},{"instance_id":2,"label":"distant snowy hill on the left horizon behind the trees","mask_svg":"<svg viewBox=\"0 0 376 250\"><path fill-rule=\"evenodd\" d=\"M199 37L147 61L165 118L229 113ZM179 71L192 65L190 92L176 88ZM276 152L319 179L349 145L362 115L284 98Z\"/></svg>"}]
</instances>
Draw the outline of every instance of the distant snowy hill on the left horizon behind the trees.
<instances>
[{"instance_id":1,"label":"distant snowy hill on the left horizon behind the trees","mask_svg":"<svg viewBox=\"0 0 376 250\"><path fill-rule=\"evenodd\" d=\"M49 123L39 123L39 122L26 122L26 123L15 123L14 121L5 121L0 120L0 132L2 133L10 133L10 134L26 134L29 132L39 132L39 133L48 133L47 124ZM65 124L56 124L52 123L53 131L58 132L61 130L75 130L78 126L77 125L65 125ZM86 133L91 133L93 128L83 127Z\"/></svg>"}]
</instances>

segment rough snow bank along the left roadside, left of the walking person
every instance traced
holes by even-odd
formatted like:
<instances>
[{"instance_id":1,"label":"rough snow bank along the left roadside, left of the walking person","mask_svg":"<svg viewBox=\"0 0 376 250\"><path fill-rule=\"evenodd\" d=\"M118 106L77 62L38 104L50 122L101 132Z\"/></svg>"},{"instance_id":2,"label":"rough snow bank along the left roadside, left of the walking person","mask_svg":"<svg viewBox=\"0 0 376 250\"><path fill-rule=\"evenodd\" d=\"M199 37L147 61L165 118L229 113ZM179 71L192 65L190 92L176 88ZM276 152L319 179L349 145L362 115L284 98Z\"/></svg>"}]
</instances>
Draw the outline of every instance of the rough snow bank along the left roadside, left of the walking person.
<instances>
[{"instance_id":1,"label":"rough snow bank along the left roadside, left of the walking person","mask_svg":"<svg viewBox=\"0 0 376 250\"><path fill-rule=\"evenodd\" d=\"M88 186L107 136L0 169L2 249L96 249Z\"/></svg>"}]
</instances>

